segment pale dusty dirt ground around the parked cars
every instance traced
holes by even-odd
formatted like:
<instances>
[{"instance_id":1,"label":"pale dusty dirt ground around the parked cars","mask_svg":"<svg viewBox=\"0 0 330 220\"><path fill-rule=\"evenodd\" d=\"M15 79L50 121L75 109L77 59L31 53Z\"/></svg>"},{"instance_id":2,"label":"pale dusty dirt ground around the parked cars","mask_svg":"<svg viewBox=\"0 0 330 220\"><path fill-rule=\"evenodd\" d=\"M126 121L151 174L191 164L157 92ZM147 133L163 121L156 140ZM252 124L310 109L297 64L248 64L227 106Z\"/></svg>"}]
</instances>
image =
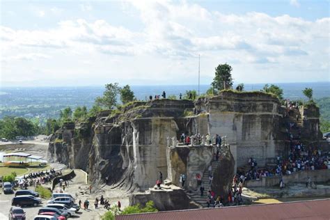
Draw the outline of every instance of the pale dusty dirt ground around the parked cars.
<instances>
[{"instance_id":1,"label":"pale dusty dirt ground around the parked cars","mask_svg":"<svg viewBox=\"0 0 330 220\"><path fill-rule=\"evenodd\" d=\"M29 152L33 155L40 155L47 158L47 147L48 143L43 141L26 141L23 145L19 144L6 144L0 145L0 150L10 150L13 152L19 149L20 152ZM22 150L21 150L22 149ZM64 168L63 164L50 164L53 168ZM109 186L100 187L98 189L94 189L92 187L91 193L89 191L88 182L86 182L86 173L81 170L74 170L76 176L68 182L68 188L65 189L65 192L71 194L76 199L76 203L81 200L82 203L87 199L90 203L88 210L81 209L77 216L72 217L72 219L86 219L86 220L94 220L100 219L100 216L107 212L104 207L100 206L100 203L97 208L94 207L95 198L104 196L105 199L109 201L111 205L117 204L120 201L122 208L129 205L128 196L129 193L122 191L120 189L111 189ZM1 173L0 173L1 175ZM50 187L49 185L45 185L45 187ZM32 189L32 188L31 188ZM60 191L59 185L56 186L54 192ZM2 191L1 191L2 192ZM0 219L5 220L8 219L8 212L11 207L11 200L14 197L13 194L0 194ZM26 212L26 219L33 219L36 214L38 214L38 210L40 207L43 207L47 204L46 199L42 199L42 204L38 207L23 207Z\"/></svg>"}]
</instances>

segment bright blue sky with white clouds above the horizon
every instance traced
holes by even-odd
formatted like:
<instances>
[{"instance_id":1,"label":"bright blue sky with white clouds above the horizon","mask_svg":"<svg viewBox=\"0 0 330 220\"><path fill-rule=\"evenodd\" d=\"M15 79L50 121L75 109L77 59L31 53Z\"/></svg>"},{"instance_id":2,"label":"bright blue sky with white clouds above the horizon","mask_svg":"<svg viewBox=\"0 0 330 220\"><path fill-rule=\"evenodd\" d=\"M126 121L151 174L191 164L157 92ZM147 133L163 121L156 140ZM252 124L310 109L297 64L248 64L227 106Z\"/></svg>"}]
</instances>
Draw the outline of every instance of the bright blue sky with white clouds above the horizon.
<instances>
[{"instance_id":1,"label":"bright blue sky with white clouds above the horizon","mask_svg":"<svg viewBox=\"0 0 330 220\"><path fill-rule=\"evenodd\" d=\"M0 1L0 86L330 81L329 4Z\"/></svg>"}]
</instances>

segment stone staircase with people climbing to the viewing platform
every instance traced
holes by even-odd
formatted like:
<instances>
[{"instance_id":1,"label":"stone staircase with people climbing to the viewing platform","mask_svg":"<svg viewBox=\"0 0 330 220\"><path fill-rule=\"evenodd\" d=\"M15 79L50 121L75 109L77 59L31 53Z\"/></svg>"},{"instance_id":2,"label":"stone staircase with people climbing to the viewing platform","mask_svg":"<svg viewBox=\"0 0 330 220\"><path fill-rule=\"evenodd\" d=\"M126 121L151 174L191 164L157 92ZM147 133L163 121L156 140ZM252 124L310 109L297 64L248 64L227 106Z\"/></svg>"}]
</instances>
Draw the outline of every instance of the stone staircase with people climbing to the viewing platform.
<instances>
[{"instance_id":1,"label":"stone staircase with people climbing to the viewing platform","mask_svg":"<svg viewBox=\"0 0 330 220\"><path fill-rule=\"evenodd\" d=\"M228 152L228 148L226 146L221 146L218 148L219 150L219 156L226 155ZM217 166L220 164L220 159L219 161L212 161L212 175L214 175L214 171L216 170ZM201 196L201 191L199 189L200 186L198 186L198 189L196 191L188 191L186 190L187 196L194 201L195 203L198 203L198 205L201 205L202 207L207 207L206 203L206 198L208 191L211 188L210 185L210 180L209 180L209 171L208 171L208 166L205 168L205 171L203 172L203 178L202 178L202 184L204 186L204 195Z\"/></svg>"}]
</instances>

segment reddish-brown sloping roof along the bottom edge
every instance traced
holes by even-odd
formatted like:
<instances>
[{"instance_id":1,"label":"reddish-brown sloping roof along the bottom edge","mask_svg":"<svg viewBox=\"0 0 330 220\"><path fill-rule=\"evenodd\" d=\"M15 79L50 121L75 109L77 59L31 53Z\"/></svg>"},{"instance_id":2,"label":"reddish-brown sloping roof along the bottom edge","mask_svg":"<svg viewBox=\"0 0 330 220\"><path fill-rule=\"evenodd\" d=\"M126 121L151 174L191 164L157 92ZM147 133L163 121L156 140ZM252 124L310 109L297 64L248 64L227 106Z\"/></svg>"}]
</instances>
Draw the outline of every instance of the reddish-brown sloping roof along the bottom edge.
<instances>
[{"instance_id":1,"label":"reddish-brown sloping roof along the bottom edge","mask_svg":"<svg viewBox=\"0 0 330 220\"><path fill-rule=\"evenodd\" d=\"M330 219L330 199L127 214L116 217L116 220L139 219Z\"/></svg>"}]
</instances>

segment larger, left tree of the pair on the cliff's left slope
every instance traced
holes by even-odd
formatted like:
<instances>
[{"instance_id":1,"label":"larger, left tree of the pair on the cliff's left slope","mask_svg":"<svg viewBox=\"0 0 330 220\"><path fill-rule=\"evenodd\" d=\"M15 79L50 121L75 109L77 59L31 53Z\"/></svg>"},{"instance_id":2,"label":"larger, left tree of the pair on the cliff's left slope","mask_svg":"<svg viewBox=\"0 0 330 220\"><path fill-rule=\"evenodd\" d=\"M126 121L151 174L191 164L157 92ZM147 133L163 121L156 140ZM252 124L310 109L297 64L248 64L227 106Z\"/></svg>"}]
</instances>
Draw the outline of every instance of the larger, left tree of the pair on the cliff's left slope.
<instances>
[{"instance_id":1,"label":"larger, left tree of the pair on the cliff's left slope","mask_svg":"<svg viewBox=\"0 0 330 220\"><path fill-rule=\"evenodd\" d=\"M118 83L106 84L103 96L97 97L95 99L95 104L104 109L111 109L117 104L117 95L119 92L120 87L118 86Z\"/></svg>"}]
</instances>

